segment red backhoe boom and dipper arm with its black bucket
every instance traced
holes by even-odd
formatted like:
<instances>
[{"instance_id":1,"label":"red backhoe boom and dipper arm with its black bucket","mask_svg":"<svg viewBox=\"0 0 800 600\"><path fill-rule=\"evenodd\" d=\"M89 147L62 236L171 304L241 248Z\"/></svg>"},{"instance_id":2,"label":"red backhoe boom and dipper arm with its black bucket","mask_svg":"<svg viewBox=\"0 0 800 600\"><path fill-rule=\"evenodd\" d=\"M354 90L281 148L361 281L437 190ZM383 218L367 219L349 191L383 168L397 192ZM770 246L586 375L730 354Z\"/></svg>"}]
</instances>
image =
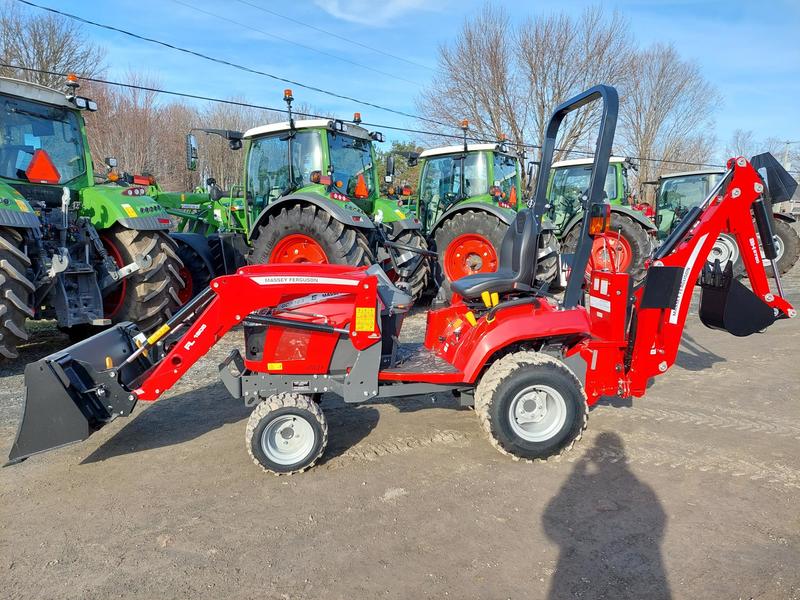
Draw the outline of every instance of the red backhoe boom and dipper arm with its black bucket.
<instances>
[{"instance_id":1,"label":"red backhoe boom and dipper arm with its black bucket","mask_svg":"<svg viewBox=\"0 0 800 600\"><path fill-rule=\"evenodd\" d=\"M688 215L694 223L677 232L678 239L668 240L665 253L656 254L645 285L634 294L625 360L628 391L634 396L643 395L648 380L674 364L701 272L701 320L706 325L748 335L796 314L789 302L770 290L764 270L753 222L753 211L763 202L764 184L744 158L731 159L728 167L732 172L723 178L724 195L714 190L698 212ZM724 272L718 265L706 266L722 231L736 238L752 292L732 277L730 266ZM708 304L717 306L709 310ZM705 318L704 312L711 317Z\"/></svg>"}]
</instances>

